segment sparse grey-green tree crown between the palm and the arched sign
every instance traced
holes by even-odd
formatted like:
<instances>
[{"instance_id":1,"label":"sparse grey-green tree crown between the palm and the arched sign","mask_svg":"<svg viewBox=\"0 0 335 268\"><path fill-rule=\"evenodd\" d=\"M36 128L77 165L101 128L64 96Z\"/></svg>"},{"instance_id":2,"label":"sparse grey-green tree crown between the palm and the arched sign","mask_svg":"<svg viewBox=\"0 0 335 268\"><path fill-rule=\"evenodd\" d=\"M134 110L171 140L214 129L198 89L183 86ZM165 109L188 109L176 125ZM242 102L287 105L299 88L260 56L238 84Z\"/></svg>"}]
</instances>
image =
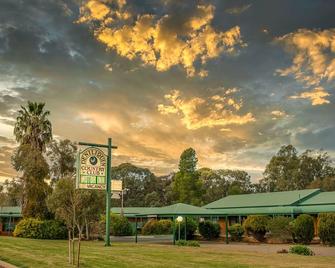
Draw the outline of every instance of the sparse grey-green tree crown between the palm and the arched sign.
<instances>
[{"instance_id":1,"label":"sparse grey-green tree crown between the palm and the arched sign","mask_svg":"<svg viewBox=\"0 0 335 268\"><path fill-rule=\"evenodd\" d=\"M53 140L48 147L52 182L72 177L75 172L77 146L70 140Z\"/></svg>"}]
</instances>

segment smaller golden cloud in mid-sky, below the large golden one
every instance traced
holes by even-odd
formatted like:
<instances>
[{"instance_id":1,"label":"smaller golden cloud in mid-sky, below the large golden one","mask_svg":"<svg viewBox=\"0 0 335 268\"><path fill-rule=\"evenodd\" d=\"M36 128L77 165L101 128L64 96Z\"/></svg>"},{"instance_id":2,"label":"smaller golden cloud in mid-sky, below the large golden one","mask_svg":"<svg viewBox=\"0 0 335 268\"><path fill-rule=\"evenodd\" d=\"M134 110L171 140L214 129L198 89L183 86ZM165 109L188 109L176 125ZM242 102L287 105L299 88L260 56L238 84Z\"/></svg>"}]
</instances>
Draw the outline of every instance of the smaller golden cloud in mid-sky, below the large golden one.
<instances>
[{"instance_id":1,"label":"smaller golden cloud in mid-sky, below the large golden one","mask_svg":"<svg viewBox=\"0 0 335 268\"><path fill-rule=\"evenodd\" d=\"M186 100L178 90L172 90L170 94L165 95L165 99L172 105L159 104L158 111L163 115L181 114L181 121L187 129L244 125L255 121L252 113L235 114L242 107L242 101L236 101L229 96L214 95L207 100L199 97Z\"/></svg>"}]
</instances>

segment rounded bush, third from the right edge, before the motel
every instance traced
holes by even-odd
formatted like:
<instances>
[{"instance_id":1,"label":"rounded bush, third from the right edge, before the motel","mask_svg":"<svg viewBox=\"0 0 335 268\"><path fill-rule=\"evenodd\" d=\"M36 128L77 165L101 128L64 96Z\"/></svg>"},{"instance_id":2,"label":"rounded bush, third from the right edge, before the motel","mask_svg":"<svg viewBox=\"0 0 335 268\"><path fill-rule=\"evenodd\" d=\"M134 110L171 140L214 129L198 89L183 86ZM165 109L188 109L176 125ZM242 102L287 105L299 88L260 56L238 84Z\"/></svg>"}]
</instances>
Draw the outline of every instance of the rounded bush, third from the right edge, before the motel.
<instances>
[{"instance_id":1,"label":"rounded bush, third from the right edge, before the motel","mask_svg":"<svg viewBox=\"0 0 335 268\"><path fill-rule=\"evenodd\" d=\"M268 231L271 233L271 238L280 240L281 242L289 242L292 240L292 228L288 217L274 217L268 222Z\"/></svg>"}]
</instances>

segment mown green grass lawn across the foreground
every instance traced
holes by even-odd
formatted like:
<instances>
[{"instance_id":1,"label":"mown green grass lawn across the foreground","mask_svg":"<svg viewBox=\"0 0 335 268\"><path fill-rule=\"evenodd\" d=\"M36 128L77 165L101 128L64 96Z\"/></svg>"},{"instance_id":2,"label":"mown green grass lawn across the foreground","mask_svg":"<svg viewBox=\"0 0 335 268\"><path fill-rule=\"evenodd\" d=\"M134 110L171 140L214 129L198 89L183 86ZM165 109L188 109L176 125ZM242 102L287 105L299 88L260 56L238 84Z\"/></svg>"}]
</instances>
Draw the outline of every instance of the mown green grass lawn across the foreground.
<instances>
[{"instance_id":1,"label":"mown green grass lawn across the foreground","mask_svg":"<svg viewBox=\"0 0 335 268\"><path fill-rule=\"evenodd\" d=\"M0 260L19 267L72 267L67 241L0 237ZM134 243L82 243L81 267L335 267L334 257L253 252Z\"/></svg>"}]
</instances>

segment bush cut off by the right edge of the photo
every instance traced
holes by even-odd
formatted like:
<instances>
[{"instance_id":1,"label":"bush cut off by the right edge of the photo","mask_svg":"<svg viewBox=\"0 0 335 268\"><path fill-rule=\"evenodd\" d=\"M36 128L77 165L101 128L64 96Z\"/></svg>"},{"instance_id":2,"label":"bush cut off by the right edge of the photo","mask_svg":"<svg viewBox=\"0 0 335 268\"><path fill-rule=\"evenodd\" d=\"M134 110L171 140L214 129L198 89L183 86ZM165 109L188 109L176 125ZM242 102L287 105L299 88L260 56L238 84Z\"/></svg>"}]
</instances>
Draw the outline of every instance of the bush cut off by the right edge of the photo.
<instances>
[{"instance_id":1,"label":"bush cut off by the right edge of the photo","mask_svg":"<svg viewBox=\"0 0 335 268\"><path fill-rule=\"evenodd\" d=\"M322 243L335 245L335 213L319 214L318 233Z\"/></svg>"}]
</instances>

